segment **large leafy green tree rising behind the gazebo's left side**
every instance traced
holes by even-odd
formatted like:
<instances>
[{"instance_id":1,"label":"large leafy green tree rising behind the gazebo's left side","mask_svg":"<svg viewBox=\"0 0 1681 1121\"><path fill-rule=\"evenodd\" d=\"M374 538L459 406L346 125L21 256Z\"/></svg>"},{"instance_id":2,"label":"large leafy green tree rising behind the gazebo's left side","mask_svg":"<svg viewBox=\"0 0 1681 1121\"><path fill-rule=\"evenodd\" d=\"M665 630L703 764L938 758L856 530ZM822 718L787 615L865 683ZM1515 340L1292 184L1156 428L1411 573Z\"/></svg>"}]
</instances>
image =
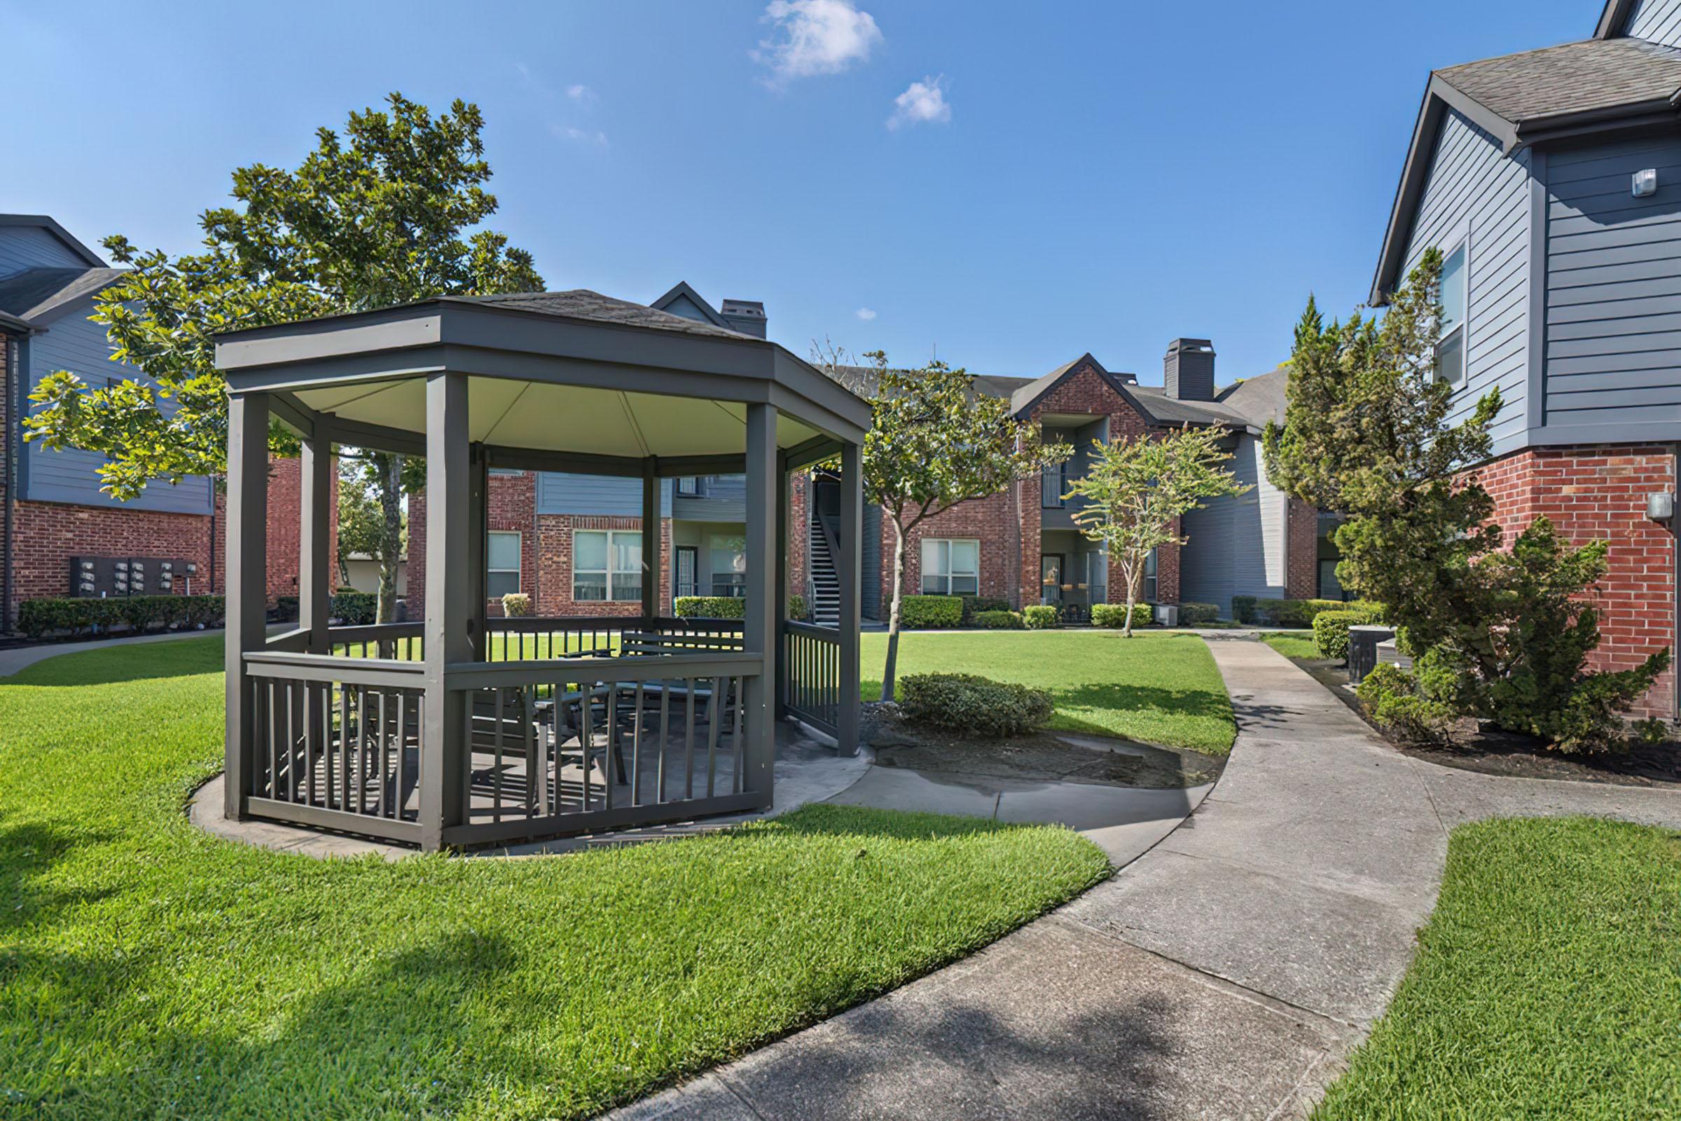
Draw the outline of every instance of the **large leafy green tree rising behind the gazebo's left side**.
<instances>
[{"instance_id":1,"label":"large leafy green tree rising behind the gazebo's left side","mask_svg":"<svg viewBox=\"0 0 1681 1121\"><path fill-rule=\"evenodd\" d=\"M531 254L511 249L503 234L467 234L496 212L484 190L482 128L474 104L456 101L434 116L392 94L387 111L351 113L343 136L318 129L296 171L237 168L237 205L200 215L203 252L170 257L108 237L113 261L131 271L99 294L92 319L104 324L111 356L153 385L89 388L71 371L47 375L30 395L39 410L25 418L25 437L104 454L103 489L123 499L160 479L220 477L227 385L215 368L215 334L434 296L541 289ZM296 452L279 422L269 432L272 452ZM380 487L380 618L388 620L400 553L392 511L405 481L422 474L388 452L340 455L365 464Z\"/></svg>"}]
</instances>

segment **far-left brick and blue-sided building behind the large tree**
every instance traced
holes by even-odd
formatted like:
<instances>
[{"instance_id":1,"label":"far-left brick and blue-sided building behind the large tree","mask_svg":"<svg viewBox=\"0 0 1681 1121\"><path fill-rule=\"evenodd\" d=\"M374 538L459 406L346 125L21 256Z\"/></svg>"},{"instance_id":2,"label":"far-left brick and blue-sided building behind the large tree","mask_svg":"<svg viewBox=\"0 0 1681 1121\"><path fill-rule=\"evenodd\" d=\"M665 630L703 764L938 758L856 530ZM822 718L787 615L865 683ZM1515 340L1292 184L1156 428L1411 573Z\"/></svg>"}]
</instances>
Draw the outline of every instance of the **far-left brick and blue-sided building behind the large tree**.
<instances>
[{"instance_id":1,"label":"far-left brick and blue-sided building behind the large tree","mask_svg":"<svg viewBox=\"0 0 1681 1121\"><path fill-rule=\"evenodd\" d=\"M71 370L91 385L143 380L109 360L104 328L87 319L119 274L49 217L0 215L0 632L24 600L72 595L76 556L180 560L193 568L170 592L222 592L222 497L210 479L153 484L121 503L99 489L99 455L22 439L29 393L49 373ZM271 477L277 597L298 587L296 461L274 461Z\"/></svg>"}]
</instances>

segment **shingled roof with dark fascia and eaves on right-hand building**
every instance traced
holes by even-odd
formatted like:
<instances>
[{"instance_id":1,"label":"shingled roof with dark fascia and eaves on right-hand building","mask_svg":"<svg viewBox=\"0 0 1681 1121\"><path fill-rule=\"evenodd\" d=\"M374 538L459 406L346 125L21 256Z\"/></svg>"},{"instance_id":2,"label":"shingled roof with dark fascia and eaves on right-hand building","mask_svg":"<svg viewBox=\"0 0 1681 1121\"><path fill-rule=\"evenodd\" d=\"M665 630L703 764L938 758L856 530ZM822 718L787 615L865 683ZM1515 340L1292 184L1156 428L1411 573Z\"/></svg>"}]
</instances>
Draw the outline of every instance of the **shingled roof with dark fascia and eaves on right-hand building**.
<instances>
[{"instance_id":1,"label":"shingled roof with dark fascia and eaves on right-hand building","mask_svg":"<svg viewBox=\"0 0 1681 1121\"><path fill-rule=\"evenodd\" d=\"M1609 0L1595 37L1584 42L1431 72L1372 277L1373 306L1387 304L1399 284L1414 212L1449 111L1493 136L1506 155L1602 128L1681 121L1681 50L1620 35L1631 7Z\"/></svg>"}]
</instances>

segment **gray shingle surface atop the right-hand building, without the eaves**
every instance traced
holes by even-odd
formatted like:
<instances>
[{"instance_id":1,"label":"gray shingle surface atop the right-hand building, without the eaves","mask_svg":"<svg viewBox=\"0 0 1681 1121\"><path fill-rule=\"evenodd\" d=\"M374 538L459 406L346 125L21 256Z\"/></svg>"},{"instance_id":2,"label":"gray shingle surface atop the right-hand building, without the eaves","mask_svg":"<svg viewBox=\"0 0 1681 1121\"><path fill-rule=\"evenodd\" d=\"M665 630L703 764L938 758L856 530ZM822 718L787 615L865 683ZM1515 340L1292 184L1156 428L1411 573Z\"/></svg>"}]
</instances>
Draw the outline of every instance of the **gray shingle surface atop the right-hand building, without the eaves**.
<instances>
[{"instance_id":1,"label":"gray shingle surface atop the right-hand building, without the eaves","mask_svg":"<svg viewBox=\"0 0 1681 1121\"><path fill-rule=\"evenodd\" d=\"M1668 103L1681 91L1681 50L1644 39L1590 39L1436 71L1511 124Z\"/></svg>"}]
</instances>

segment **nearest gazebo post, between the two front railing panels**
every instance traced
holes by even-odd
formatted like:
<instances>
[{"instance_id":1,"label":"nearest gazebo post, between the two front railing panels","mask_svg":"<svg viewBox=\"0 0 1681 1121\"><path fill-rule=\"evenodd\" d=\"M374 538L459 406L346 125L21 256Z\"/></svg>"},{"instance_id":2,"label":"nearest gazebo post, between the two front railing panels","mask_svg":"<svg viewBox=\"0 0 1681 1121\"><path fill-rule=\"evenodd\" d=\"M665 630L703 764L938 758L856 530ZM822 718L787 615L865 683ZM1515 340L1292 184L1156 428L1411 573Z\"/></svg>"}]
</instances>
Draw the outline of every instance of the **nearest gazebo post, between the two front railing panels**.
<instances>
[{"instance_id":1,"label":"nearest gazebo post, between the two front railing panels","mask_svg":"<svg viewBox=\"0 0 1681 1121\"><path fill-rule=\"evenodd\" d=\"M444 847L464 820L466 694L444 667L472 660L472 526L467 459L467 375L434 373L425 385L425 721L420 729L420 847Z\"/></svg>"}]
</instances>

